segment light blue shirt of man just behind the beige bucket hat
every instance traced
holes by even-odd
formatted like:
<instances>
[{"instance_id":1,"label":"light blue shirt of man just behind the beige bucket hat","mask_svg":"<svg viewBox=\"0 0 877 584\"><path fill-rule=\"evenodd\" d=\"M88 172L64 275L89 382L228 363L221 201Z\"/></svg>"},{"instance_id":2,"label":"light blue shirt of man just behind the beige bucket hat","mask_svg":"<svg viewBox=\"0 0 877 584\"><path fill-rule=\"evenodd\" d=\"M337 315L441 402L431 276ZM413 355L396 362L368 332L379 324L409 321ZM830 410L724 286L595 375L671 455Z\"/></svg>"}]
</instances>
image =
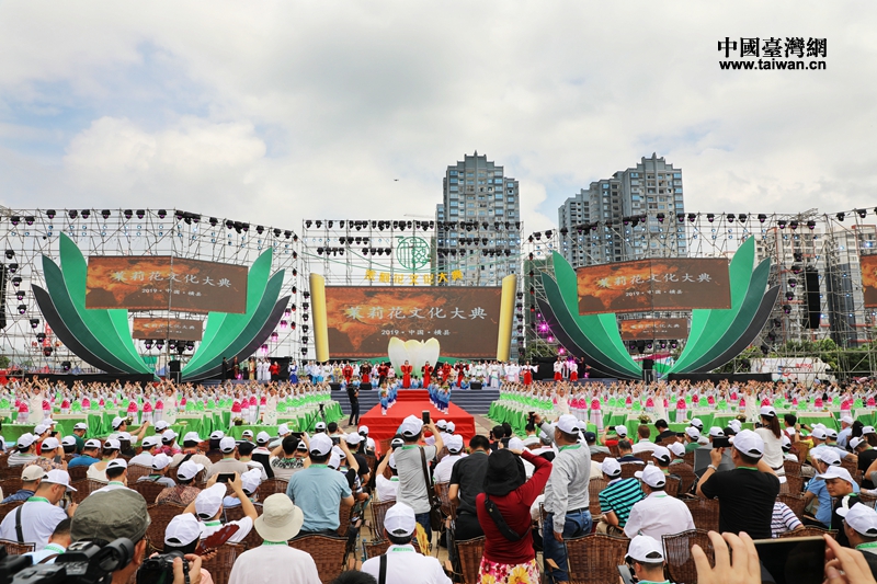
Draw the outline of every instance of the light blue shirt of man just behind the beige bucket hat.
<instances>
[{"instance_id":1,"label":"light blue shirt of man just behind the beige bucket hat","mask_svg":"<svg viewBox=\"0 0 877 584\"><path fill-rule=\"evenodd\" d=\"M286 496L305 513L303 531L338 530L341 500L351 496L348 479L326 465L311 465L289 478Z\"/></svg>"}]
</instances>

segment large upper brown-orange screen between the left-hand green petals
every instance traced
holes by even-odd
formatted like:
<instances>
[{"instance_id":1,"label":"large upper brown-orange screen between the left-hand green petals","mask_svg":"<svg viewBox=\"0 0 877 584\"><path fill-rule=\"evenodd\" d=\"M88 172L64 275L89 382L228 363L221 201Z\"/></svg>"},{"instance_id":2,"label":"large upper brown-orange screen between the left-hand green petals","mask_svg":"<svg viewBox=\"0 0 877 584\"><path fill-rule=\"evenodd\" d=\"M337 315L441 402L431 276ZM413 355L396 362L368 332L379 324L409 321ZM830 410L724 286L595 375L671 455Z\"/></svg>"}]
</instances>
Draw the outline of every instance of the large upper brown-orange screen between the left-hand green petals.
<instances>
[{"instance_id":1,"label":"large upper brown-orange screen between the left-hand green petals","mask_svg":"<svg viewBox=\"0 0 877 584\"><path fill-rule=\"evenodd\" d=\"M170 255L91 256L86 308L247 312L247 267Z\"/></svg>"}]
</instances>

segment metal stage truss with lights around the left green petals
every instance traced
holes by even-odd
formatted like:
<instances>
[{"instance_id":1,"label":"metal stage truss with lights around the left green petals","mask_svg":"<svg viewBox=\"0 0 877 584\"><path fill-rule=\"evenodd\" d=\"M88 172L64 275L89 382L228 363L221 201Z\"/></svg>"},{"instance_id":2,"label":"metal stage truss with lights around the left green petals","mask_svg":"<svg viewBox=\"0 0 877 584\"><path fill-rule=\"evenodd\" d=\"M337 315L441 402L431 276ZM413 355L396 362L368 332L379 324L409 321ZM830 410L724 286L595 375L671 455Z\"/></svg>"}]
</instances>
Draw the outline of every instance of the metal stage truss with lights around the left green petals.
<instances>
[{"instance_id":1,"label":"metal stage truss with lights around the left green petals","mask_svg":"<svg viewBox=\"0 0 877 584\"><path fill-rule=\"evenodd\" d=\"M48 330L31 289L45 287L42 257L58 263L59 233L76 242L83 255L173 255L244 265L249 267L273 248L271 273L284 270L280 296L291 296L289 306L257 357L292 357L300 360L312 346L308 334L307 278L301 272L303 244L291 228L260 226L247 221L210 217L178 209L8 209L0 208L0 253L7 270L5 327L0 331L0 353L10 367L25 371L92 371ZM132 311L130 317L191 318L205 314L161 310ZM141 355L161 369L170 358L186 362L192 348L182 354L163 343L135 341ZM312 351L310 351L312 355Z\"/></svg>"}]
</instances>

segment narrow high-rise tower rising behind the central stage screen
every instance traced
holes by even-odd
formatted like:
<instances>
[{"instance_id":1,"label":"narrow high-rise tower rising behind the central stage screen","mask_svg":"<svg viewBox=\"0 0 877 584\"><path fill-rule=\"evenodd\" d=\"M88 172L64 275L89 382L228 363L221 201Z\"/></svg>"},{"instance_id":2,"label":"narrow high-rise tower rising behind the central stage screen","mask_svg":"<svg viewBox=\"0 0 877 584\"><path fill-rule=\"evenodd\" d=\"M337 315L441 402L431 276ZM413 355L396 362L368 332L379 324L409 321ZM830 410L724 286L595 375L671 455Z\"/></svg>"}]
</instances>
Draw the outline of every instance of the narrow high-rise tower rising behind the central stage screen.
<instances>
[{"instance_id":1,"label":"narrow high-rise tower rising behind the central stage screen","mask_svg":"<svg viewBox=\"0 0 877 584\"><path fill-rule=\"evenodd\" d=\"M517 181L476 151L447 167L443 194L435 209L437 271L458 271L462 278L452 285L500 285L520 261Z\"/></svg>"}]
</instances>

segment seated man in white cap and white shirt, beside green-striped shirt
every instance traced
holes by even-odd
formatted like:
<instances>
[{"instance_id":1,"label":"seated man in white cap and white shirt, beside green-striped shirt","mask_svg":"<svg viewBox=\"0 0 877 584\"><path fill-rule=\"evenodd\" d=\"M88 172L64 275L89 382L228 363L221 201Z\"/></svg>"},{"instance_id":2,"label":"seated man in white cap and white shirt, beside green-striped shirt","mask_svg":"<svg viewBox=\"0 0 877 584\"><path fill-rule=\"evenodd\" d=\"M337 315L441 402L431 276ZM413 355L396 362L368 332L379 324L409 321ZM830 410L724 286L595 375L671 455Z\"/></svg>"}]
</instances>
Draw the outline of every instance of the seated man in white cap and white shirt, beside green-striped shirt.
<instances>
[{"instance_id":1,"label":"seated man in white cap and white shirt, beside green-striped shirt","mask_svg":"<svg viewBox=\"0 0 877 584\"><path fill-rule=\"evenodd\" d=\"M636 472L642 481L646 499L630 509L624 533L629 538L645 535L661 539L662 536L681 534L694 529L694 519L688 507L676 497L664 492L667 476L660 468L649 465ZM773 512L773 506L771 506Z\"/></svg>"}]
</instances>

